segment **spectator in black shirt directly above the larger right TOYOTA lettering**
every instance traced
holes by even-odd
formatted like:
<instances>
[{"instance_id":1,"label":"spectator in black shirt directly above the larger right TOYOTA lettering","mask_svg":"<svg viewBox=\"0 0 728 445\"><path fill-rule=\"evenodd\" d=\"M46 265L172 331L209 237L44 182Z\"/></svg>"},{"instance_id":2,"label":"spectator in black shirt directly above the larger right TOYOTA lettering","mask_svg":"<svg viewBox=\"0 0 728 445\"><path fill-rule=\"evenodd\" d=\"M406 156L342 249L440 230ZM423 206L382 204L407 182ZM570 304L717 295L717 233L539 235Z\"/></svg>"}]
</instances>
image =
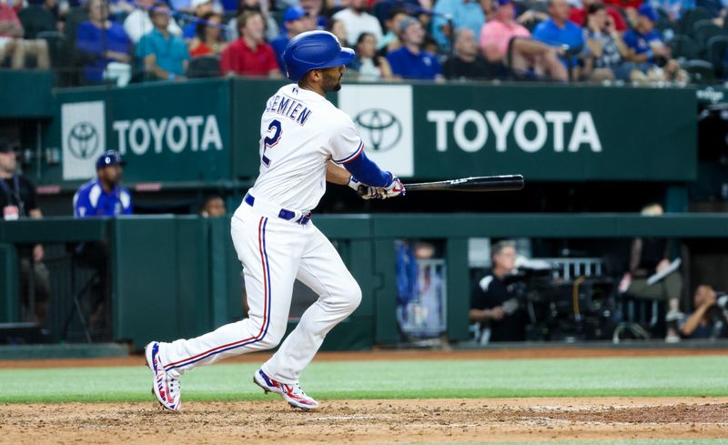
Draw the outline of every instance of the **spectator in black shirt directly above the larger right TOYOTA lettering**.
<instances>
[{"instance_id":1,"label":"spectator in black shirt directly above the larger right TOYOTA lettering","mask_svg":"<svg viewBox=\"0 0 728 445\"><path fill-rule=\"evenodd\" d=\"M448 80L494 79L499 75L497 66L490 65L480 56L470 28L455 31L454 55L442 65L442 72Z\"/></svg>"}]
</instances>

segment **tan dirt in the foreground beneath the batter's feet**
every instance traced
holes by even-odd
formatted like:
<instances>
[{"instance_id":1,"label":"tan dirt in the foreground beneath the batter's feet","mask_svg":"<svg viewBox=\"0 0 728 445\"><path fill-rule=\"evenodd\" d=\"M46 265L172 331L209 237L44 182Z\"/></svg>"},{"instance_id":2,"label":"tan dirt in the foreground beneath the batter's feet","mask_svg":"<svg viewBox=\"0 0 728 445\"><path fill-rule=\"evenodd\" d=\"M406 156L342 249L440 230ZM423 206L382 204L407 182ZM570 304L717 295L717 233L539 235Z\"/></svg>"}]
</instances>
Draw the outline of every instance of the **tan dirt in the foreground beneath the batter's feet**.
<instances>
[{"instance_id":1,"label":"tan dirt in the foreground beneath the batter's feet","mask_svg":"<svg viewBox=\"0 0 728 445\"><path fill-rule=\"evenodd\" d=\"M383 444L724 439L728 398L325 401L0 406L0 443Z\"/></svg>"}]
</instances>

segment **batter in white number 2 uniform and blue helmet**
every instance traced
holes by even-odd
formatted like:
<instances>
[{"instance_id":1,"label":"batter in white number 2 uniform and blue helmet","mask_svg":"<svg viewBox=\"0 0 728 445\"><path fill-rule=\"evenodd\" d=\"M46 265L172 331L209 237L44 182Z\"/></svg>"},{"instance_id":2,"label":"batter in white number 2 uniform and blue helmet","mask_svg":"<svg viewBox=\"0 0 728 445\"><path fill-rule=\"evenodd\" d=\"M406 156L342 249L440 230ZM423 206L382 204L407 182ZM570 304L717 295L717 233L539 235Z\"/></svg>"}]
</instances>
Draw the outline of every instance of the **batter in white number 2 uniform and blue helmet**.
<instances>
[{"instance_id":1,"label":"batter in white number 2 uniform and blue helmet","mask_svg":"<svg viewBox=\"0 0 728 445\"><path fill-rule=\"evenodd\" d=\"M152 391L167 410L179 410L179 378L187 370L278 346L296 279L315 290L319 300L253 381L295 408L319 406L298 378L329 330L359 306L361 289L311 222L310 211L319 204L327 181L348 185L364 198L405 192L398 177L369 160L351 118L325 97L339 91L344 66L353 58L354 51L341 48L326 31L302 33L286 46L286 72L295 83L268 99L260 122L260 173L231 221L245 273L248 319L197 339L147 344Z\"/></svg>"}]
</instances>

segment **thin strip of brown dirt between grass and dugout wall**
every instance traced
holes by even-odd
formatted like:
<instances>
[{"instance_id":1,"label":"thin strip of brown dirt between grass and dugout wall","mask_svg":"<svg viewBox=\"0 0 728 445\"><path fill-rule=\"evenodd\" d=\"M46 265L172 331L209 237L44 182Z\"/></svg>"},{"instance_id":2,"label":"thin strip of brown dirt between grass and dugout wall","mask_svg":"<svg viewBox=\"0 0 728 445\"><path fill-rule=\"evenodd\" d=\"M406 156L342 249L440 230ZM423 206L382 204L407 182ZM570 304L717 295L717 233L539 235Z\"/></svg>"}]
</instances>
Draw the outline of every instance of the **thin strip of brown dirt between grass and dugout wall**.
<instances>
[{"instance_id":1,"label":"thin strip of brown dirt between grass and dugout wall","mask_svg":"<svg viewBox=\"0 0 728 445\"><path fill-rule=\"evenodd\" d=\"M728 349L468 349L468 350L370 350L354 352L319 352L315 361L370 361L370 360L482 360L482 359L592 359L597 357L695 357L728 355ZM269 352L245 354L221 363L263 363ZM0 360L0 369L8 368L78 368L98 366L138 366L143 356L109 359L45 359Z\"/></svg>"}]
</instances>

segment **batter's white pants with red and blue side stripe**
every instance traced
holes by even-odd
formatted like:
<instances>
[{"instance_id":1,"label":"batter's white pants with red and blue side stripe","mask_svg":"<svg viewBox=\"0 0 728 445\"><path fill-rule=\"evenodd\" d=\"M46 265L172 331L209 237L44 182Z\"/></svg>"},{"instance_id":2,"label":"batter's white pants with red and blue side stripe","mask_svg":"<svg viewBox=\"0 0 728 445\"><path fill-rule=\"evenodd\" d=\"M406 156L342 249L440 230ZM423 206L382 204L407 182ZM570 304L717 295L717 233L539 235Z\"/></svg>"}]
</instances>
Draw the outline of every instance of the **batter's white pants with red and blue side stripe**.
<instances>
[{"instance_id":1,"label":"batter's white pants with red and blue side stripe","mask_svg":"<svg viewBox=\"0 0 728 445\"><path fill-rule=\"evenodd\" d=\"M272 213L244 202L232 218L231 235L245 272L248 319L196 339L162 343L161 359L172 375L278 346L286 332L293 283L298 278L319 294L319 300L263 365L271 378L296 383L329 330L359 306L361 289L329 239L312 221L300 225Z\"/></svg>"}]
</instances>

